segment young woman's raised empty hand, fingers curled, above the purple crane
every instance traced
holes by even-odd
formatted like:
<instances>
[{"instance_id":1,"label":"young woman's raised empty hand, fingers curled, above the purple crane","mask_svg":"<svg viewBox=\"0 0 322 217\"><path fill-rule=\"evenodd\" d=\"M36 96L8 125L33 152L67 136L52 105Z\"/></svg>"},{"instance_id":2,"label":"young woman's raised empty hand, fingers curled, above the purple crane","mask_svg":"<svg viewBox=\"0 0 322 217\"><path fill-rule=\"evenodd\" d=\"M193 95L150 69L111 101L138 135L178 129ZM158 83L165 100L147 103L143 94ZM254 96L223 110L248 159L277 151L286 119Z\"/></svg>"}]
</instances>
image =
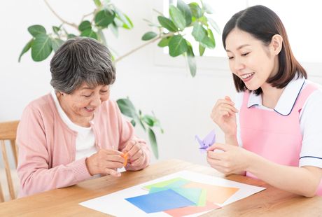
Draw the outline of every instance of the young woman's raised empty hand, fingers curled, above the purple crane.
<instances>
[{"instance_id":1,"label":"young woman's raised empty hand, fingers curled, above the purple crane","mask_svg":"<svg viewBox=\"0 0 322 217\"><path fill-rule=\"evenodd\" d=\"M232 137L236 137L237 133L236 113L238 110L234 105L232 99L226 96L225 99L218 99L211 111L211 119L214 123L221 127L225 135Z\"/></svg>"}]
</instances>

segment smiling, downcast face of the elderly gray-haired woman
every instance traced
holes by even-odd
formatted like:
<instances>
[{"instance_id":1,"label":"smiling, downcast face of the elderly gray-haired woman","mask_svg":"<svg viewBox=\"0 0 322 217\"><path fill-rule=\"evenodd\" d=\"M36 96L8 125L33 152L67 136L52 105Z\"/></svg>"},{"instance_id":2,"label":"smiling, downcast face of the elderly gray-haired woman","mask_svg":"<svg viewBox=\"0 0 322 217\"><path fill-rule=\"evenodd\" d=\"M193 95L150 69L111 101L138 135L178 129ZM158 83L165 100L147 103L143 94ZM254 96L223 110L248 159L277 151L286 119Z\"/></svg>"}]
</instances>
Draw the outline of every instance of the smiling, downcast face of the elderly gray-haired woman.
<instances>
[{"instance_id":1,"label":"smiling, downcast face of the elderly gray-haired woman","mask_svg":"<svg viewBox=\"0 0 322 217\"><path fill-rule=\"evenodd\" d=\"M83 84L71 94L57 94L60 106L77 125L88 126L92 120L94 111L110 96L109 85L89 87Z\"/></svg>"}]
</instances>

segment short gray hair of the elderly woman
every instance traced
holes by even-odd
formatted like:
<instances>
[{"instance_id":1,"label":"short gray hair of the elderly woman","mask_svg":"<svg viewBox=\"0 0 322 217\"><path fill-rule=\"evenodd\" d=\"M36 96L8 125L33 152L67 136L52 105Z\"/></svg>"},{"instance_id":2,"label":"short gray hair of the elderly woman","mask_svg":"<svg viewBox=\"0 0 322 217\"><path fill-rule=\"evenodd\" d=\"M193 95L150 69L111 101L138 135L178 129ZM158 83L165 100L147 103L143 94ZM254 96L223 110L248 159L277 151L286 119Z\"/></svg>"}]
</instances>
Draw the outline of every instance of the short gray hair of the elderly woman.
<instances>
[{"instance_id":1,"label":"short gray hair of the elderly woman","mask_svg":"<svg viewBox=\"0 0 322 217\"><path fill-rule=\"evenodd\" d=\"M109 49L92 38L76 37L63 43L50 61L50 71L50 85L66 94L83 83L96 87L116 80Z\"/></svg>"}]
</instances>

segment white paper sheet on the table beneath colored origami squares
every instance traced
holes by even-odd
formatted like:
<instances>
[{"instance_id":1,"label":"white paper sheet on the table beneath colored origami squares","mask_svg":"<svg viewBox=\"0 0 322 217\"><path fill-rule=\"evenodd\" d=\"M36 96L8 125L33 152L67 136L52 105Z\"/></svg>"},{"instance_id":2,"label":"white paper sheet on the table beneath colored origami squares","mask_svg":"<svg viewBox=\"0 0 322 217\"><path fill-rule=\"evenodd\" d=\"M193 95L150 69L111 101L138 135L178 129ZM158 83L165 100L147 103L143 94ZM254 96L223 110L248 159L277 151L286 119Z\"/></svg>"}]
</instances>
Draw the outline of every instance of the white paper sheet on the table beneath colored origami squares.
<instances>
[{"instance_id":1,"label":"white paper sheet on the table beneath colored origami squares","mask_svg":"<svg viewBox=\"0 0 322 217\"><path fill-rule=\"evenodd\" d=\"M255 193L264 190L265 188L258 186L250 186L244 183L238 183L236 181L230 181L227 179L221 179L215 176L204 175L196 172L190 172L183 170L181 172L176 172L174 174L169 174L167 176L163 176L159 179L155 179L153 181L148 181L146 183L141 183L137 186L133 186L131 188L125 188L124 190L119 190L115 193L111 193L109 195L105 195L102 197L97 197L92 200L87 200L85 202L81 202L80 205L94 209L96 211L101 211L105 214L110 214L113 216L169 216L164 212L158 212L153 214L146 214L144 211L135 207L130 202L127 202L125 198L127 197L136 197L139 195L145 195L148 191L142 189L144 186L158 183L160 181L167 181L169 179L174 179L177 177L181 177L183 179L188 179L190 181L196 181L200 183L211 184L215 186L225 186L225 187L234 187L239 188L239 190L232 195L228 200L226 200L223 204L218 204L221 207L231 204L237 200L241 200L245 197L253 195ZM201 213L200 213L201 214ZM190 215L190 216L198 216L200 214Z\"/></svg>"}]
</instances>

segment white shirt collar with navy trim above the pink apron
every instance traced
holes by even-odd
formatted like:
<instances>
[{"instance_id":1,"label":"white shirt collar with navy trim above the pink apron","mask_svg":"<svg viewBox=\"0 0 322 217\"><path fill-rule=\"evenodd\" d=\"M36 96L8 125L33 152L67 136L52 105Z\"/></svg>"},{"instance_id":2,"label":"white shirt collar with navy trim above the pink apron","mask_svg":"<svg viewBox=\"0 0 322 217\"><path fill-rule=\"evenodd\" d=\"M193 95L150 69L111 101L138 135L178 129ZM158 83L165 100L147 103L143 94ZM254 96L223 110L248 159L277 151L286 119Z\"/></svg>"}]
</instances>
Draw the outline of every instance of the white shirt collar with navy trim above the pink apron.
<instances>
[{"instance_id":1,"label":"white shirt collar with navy trim above the pink apron","mask_svg":"<svg viewBox=\"0 0 322 217\"><path fill-rule=\"evenodd\" d=\"M282 116L288 116L292 111L296 99L302 90L304 82L305 78L294 78L293 80L291 80L283 90L281 97L279 97L279 101L277 102L274 111L281 114ZM256 95L254 92L251 92L247 107L250 108L251 106L262 106L261 94Z\"/></svg>"}]
</instances>

